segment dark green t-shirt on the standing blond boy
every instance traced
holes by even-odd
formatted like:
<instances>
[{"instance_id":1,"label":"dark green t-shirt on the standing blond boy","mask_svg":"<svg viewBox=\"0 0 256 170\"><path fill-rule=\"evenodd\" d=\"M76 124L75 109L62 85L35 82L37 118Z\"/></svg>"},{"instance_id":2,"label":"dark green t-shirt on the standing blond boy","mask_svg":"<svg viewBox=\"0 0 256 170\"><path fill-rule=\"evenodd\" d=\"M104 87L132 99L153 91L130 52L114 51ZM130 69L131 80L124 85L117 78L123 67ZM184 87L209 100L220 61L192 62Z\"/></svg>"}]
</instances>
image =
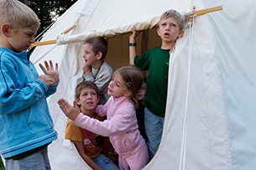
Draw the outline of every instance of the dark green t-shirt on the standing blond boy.
<instances>
[{"instance_id":1,"label":"dark green t-shirt on the standing blond boy","mask_svg":"<svg viewBox=\"0 0 256 170\"><path fill-rule=\"evenodd\" d=\"M165 116L170 49L154 47L141 56L135 56L134 65L148 70L145 106L157 116Z\"/></svg>"}]
</instances>

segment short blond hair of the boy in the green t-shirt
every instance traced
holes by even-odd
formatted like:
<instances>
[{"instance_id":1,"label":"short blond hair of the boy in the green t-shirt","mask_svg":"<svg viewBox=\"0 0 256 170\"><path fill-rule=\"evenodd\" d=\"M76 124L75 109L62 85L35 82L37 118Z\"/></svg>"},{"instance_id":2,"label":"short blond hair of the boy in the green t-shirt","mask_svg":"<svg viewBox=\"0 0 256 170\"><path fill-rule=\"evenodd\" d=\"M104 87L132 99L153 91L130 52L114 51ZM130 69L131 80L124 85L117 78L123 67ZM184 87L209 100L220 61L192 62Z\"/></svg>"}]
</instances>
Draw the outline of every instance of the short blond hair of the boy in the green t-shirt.
<instances>
[{"instance_id":1,"label":"short blond hair of the boy in the green t-shirt","mask_svg":"<svg viewBox=\"0 0 256 170\"><path fill-rule=\"evenodd\" d=\"M163 19L165 18L175 18L179 24L179 30L182 30L185 25L185 18L176 10L170 9L168 11L165 11L162 13L160 19L159 19L159 27Z\"/></svg>"}]
</instances>

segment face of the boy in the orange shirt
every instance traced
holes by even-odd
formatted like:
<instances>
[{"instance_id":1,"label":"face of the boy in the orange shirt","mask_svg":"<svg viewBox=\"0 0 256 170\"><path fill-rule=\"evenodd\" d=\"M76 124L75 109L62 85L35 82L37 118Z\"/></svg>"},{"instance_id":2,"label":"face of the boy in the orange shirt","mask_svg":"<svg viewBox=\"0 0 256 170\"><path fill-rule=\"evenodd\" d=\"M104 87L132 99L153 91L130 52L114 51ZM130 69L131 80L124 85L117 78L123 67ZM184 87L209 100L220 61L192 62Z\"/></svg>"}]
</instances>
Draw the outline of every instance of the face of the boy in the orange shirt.
<instances>
[{"instance_id":1,"label":"face of the boy in the orange shirt","mask_svg":"<svg viewBox=\"0 0 256 170\"><path fill-rule=\"evenodd\" d=\"M99 101L96 90L92 88L84 88L81 90L79 99L76 99L76 103L80 105L80 109L83 113L86 111L94 111Z\"/></svg>"}]
</instances>

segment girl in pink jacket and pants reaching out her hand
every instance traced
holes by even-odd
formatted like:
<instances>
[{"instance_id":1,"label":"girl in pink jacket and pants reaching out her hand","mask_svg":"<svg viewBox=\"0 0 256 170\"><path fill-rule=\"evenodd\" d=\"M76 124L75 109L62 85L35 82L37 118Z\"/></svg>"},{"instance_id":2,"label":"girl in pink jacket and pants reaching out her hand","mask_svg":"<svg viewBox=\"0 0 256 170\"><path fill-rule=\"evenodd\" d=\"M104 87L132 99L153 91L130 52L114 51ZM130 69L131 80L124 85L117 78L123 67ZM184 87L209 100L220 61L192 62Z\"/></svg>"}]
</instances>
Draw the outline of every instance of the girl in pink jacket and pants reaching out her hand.
<instances>
[{"instance_id":1,"label":"girl in pink jacket and pants reaching out her hand","mask_svg":"<svg viewBox=\"0 0 256 170\"><path fill-rule=\"evenodd\" d=\"M60 109L76 126L110 138L118 153L121 170L140 170L149 161L148 148L138 131L135 111L138 106L136 94L142 83L143 75L133 66L125 66L114 72L107 90L111 97L104 106L97 106L95 111L99 116L107 116L106 121L83 115L76 102L71 106L64 99L58 101Z\"/></svg>"}]
</instances>

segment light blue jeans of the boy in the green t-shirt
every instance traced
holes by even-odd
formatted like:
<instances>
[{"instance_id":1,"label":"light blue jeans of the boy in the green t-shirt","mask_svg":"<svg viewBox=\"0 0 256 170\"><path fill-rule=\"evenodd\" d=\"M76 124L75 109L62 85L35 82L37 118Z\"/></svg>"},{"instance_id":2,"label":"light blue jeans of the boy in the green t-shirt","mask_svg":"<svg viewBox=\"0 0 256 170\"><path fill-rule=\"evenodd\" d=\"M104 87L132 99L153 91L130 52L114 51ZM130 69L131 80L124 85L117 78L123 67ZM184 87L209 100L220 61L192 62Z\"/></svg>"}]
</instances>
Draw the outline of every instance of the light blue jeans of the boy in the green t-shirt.
<instances>
[{"instance_id":1,"label":"light blue jeans of the boy in the green t-shirt","mask_svg":"<svg viewBox=\"0 0 256 170\"><path fill-rule=\"evenodd\" d=\"M149 160L151 160L161 142L165 117L156 116L145 107L144 120L145 131L148 136Z\"/></svg>"}]
</instances>

